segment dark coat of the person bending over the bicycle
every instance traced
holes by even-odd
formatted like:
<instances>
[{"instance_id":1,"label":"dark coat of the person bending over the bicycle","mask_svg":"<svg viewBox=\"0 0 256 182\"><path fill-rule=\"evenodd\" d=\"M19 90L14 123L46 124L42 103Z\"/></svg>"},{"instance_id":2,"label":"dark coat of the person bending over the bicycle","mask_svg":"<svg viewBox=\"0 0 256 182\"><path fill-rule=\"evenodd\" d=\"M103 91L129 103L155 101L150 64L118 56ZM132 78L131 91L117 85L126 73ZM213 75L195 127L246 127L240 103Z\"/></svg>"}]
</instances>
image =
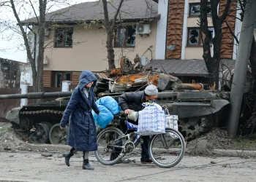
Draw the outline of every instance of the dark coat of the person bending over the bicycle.
<instances>
[{"instance_id":1,"label":"dark coat of the person bending over the bicycle","mask_svg":"<svg viewBox=\"0 0 256 182\"><path fill-rule=\"evenodd\" d=\"M141 111L143 109L142 103L146 102L146 95L144 91L127 92L119 96L118 103L121 109L132 109L134 111Z\"/></svg>"}]
</instances>

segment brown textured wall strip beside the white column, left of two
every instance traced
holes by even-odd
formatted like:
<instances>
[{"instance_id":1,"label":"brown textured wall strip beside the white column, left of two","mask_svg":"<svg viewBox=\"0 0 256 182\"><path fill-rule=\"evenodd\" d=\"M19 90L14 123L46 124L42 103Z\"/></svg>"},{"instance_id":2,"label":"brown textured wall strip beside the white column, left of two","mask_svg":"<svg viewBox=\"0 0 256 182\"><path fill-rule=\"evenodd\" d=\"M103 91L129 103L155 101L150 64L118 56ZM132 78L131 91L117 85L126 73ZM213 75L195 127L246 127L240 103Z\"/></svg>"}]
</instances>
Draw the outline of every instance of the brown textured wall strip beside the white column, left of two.
<instances>
[{"instance_id":1,"label":"brown textured wall strip beside the white column, left of two","mask_svg":"<svg viewBox=\"0 0 256 182\"><path fill-rule=\"evenodd\" d=\"M167 46L176 44L176 50L166 49L167 59L181 58L182 30L184 19L184 0L169 2L167 21Z\"/></svg>"}]
</instances>

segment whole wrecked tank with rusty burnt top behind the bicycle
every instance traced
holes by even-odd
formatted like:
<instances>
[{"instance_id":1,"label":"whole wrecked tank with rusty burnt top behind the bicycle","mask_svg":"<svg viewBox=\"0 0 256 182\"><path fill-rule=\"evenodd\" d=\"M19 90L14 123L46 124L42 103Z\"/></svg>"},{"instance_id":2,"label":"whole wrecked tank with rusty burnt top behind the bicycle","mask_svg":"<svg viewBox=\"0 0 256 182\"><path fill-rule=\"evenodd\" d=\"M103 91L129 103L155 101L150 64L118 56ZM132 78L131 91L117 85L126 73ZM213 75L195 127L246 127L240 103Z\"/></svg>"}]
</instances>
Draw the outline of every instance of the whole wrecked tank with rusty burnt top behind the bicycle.
<instances>
[{"instance_id":1,"label":"whole wrecked tank with rusty burnt top behind the bicycle","mask_svg":"<svg viewBox=\"0 0 256 182\"><path fill-rule=\"evenodd\" d=\"M111 96L118 101L123 92L144 90L154 84L159 89L157 103L167 106L170 114L178 115L178 130L190 140L208 132L212 127L225 124L223 112L229 105L228 92L203 90L200 83L182 83L176 76L159 73L154 68L144 68L138 58L132 64L126 57L121 58L121 68L95 73L97 98ZM213 89L214 90L214 89ZM21 95L0 95L7 98L58 98L50 102L32 103L13 108L6 118L19 130L30 131L31 143L66 143L68 127L60 130L59 122L72 92L39 92ZM62 97L62 98L61 98ZM109 126L118 127L121 114L115 116ZM100 129L99 129L100 130Z\"/></svg>"}]
</instances>

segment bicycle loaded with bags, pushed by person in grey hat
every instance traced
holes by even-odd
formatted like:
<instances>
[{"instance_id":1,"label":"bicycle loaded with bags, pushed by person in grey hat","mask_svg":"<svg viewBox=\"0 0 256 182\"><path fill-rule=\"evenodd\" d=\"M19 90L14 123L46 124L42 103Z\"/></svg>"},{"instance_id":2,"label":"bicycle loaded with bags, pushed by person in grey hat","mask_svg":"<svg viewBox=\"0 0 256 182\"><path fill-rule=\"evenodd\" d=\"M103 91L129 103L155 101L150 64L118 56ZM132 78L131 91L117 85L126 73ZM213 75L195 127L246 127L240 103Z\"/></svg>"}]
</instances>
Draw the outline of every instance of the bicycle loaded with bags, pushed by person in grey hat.
<instances>
[{"instance_id":1,"label":"bicycle loaded with bags, pushed by person in grey hat","mask_svg":"<svg viewBox=\"0 0 256 182\"><path fill-rule=\"evenodd\" d=\"M115 165L126 154L132 154L142 135L138 135L138 125L127 122L127 132L124 134L117 127L108 127L98 134L98 150L94 151L97 160L102 165ZM135 130L133 132L129 132ZM135 137L134 137L135 136ZM132 139L133 138L133 139ZM181 162L186 150L184 137L172 128L166 128L165 134L153 135L149 146L152 162L159 167L174 167ZM167 156L162 157L162 154ZM113 158L113 156L115 156ZM111 159L111 157L113 159ZM166 159L170 162L164 162Z\"/></svg>"}]
</instances>

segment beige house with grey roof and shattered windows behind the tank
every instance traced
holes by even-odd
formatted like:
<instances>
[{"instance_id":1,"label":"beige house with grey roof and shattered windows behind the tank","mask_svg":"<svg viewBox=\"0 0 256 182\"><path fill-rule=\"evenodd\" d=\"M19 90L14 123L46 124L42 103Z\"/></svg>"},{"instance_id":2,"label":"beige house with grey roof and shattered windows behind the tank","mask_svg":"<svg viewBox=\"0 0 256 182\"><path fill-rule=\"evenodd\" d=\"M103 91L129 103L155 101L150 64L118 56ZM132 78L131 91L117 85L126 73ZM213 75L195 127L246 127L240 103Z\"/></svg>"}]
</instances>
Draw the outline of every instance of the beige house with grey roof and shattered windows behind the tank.
<instances>
[{"instance_id":1,"label":"beige house with grey roof and shattered windows behind the tank","mask_svg":"<svg viewBox=\"0 0 256 182\"><path fill-rule=\"evenodd\" d=\"M220 0L219 15L222 15L226 1ZM122 56L133 60L139 55L147 58L149 66L165 68L167 73L176 76L206 76L199 25L200 0L154 0L151 1L151 7L145 2L145 0L124 1L126 4L122 10L130 13L122 17L123 21L115 31L116 38L113 45L116 67L120 67L119 60ZM61 87L61 82L64 80L76 85L80 71L108 69L106 30L100 21L94 21L101 20L102 17L97 15L100 14L99 12L102 14L102 7L95 6L94 2L78 5L69 9L68 18L64 16L65 14L60 14L61 17L56 18L55 21L49 20L55 25L48 28L45 36L45 44L47 44L43 79L45 87ZM237 6L237 1L233 0L230 16L226 19L230 28L226 23L222 25L221 54L225 63L230 64L230 68L234 68L238 50L238 44L230 31L238 39L241 31L241 21L236 18L240 17L240 10L236 11ZM131 7L135 8L131 10ZM78 9L83 9L83 13L86 14L80 14ZM67 9L64 9L65 11ZM113 9L112 12L110 10L110 15L111 13L113 15L113 12ZM212 39L214 28L210 6L208 15L209 36ZM85 23L78 23L79 17L86 17L83 19L86 20ZM139 33L140 25L143 25L144 31L148 31ZM34 28L37 26L34 25ZM165 62L161 62L162 60ZM173 70L177 65L181 65L184 69ZM186 80L189 82L190 79L186 77Z\"/></svg>"}]
</instances>

